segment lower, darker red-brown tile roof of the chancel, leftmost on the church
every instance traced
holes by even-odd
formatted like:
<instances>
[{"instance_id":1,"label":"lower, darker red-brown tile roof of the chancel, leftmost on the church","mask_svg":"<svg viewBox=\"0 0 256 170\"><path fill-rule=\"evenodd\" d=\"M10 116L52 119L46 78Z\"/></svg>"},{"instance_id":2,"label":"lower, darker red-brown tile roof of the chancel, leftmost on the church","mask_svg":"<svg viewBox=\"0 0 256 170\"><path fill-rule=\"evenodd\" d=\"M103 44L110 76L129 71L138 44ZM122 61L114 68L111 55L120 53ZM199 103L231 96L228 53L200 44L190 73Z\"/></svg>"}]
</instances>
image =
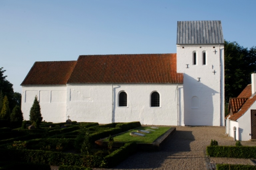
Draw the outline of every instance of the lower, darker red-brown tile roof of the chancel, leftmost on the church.
<instances>
[{"instance_id":1,"label":"lower, darker red-brown tile roof of the chancel, leftmost on the church","mask_svg":"<svg viewBox=\"0 0 256 170\"><path fill-rule=\"evenodd\" d=\"M21 85L65 85L77 61L37 61Z\"/></svg>"}]
</instances>

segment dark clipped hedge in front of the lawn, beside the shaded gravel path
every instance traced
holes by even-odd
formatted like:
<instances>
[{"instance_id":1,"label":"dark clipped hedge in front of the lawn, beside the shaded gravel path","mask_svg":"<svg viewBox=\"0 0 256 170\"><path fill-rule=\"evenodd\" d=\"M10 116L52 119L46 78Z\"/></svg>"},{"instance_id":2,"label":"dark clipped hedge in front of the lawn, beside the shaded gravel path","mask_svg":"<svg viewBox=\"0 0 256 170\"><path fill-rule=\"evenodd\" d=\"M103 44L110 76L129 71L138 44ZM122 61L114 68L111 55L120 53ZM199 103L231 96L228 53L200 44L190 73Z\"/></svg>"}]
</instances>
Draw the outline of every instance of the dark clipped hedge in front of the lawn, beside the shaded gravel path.
<instances>
[{"instance_id":1,"label":"dark clipped hedge in front of the lawn, beside the shaded gravel path","mask_svg":"<svg viewBox=\"0 0 256 170\"><path fill-rule=\"evenodd\" d=\"M105 157L105 167L114 167L136 152L136 143L126 143L124 146Z\"/></svg>"}]
</instances>

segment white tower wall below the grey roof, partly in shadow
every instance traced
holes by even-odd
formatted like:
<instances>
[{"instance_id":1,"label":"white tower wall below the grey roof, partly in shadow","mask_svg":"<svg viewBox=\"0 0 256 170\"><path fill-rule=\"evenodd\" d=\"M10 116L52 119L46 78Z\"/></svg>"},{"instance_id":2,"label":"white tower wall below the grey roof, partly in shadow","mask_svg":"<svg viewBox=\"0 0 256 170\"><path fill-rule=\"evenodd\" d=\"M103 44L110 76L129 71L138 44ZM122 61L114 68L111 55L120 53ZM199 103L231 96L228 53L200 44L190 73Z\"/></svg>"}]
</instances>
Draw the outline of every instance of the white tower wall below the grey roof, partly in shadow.
<instances>
[{"instance_id":1,"label":"white tower wall below the grey roof, partly in shadow","mask_svg":"<svg viewBox=\"0 0 256 170\"><path fill-rule=\"evenodd\" d=\"M224 46L177 45L177 72L184 72L185 125L224 126Z\"/></svg>"}]
</instances>

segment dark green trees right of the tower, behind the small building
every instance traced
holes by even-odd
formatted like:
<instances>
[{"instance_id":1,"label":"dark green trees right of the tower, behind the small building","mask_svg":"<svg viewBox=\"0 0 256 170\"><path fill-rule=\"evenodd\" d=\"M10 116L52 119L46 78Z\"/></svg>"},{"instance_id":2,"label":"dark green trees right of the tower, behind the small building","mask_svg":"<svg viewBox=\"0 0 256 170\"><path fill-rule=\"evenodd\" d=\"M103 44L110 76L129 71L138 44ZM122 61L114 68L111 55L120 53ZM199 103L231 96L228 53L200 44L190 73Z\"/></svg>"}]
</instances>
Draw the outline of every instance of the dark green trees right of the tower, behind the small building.
<instances>
[{"instance_id":1,"label":"dark green trees right of the tower, behind the small building","mask_svg":"<svg viewBox=\"0 0 256 170\"><path fill-rule=\"evenodd\" d=\"M225 101L236 98L251 83L251 73L256 72L256 47L250 49L237 42L225 41Z\"/></svg>"}]
</instances>

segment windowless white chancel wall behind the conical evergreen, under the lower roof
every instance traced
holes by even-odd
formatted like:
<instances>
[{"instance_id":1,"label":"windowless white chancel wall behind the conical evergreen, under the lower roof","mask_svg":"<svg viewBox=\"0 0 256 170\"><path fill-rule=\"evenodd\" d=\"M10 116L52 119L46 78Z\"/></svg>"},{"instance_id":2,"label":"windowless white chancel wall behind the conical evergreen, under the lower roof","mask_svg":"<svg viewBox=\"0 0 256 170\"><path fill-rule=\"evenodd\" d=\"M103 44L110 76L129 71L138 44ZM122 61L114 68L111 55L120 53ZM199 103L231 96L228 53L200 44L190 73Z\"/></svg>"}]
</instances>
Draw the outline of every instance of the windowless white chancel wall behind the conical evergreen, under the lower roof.
<instances>
[{"instance_id":1,"label":"windowless white chancel wall behind the conical evergreen, under the lower roof","mask_svg":"<svg viewBox=\"0 0 256 170\"><path fill-rule=\"evenodd\" d=\"M29 120L35 96L40 104L43 120L66 121L66 85L22 86L21 110L24 120Z\"/></svg>"}]
</instances>

